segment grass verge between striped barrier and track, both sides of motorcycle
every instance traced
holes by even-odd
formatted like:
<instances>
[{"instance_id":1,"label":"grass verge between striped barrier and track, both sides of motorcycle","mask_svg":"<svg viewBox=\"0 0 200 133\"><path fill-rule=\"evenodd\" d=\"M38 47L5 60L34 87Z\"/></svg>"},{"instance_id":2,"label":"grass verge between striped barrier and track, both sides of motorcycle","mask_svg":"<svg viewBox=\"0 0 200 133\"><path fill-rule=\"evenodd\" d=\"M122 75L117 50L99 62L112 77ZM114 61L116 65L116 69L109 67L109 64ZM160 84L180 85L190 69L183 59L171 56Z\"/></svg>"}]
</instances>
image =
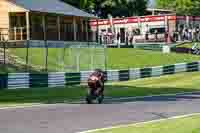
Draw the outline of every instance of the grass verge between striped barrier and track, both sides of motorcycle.
<instances>
[{"instance_id":1,"label":"grass verge between striped barrier and track, both sides of motorcycle","mask_svg":"<svg viewBox=\"0 0 200 133\"><path fill-rule=\"evenodd\" d=\"M120 83L107 83L108 97L147 96L156 94L199 91L200 73L182 73ZM0 90L0 104L47 103L79 101L85 98L85 86L65 88L32 88Z\"/></svg>"}]
</instances>

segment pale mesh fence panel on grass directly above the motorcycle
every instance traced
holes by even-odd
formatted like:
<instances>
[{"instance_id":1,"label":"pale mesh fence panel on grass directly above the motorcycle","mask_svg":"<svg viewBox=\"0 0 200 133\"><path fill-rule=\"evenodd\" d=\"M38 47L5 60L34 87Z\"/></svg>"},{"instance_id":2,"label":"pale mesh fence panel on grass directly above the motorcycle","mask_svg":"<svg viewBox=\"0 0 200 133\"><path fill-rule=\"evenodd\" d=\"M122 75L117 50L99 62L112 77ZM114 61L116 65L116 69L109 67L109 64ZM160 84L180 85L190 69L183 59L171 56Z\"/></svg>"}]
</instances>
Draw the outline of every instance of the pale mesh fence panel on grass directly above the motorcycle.
<instances>
[{"instance_id":1,"label":"pale mesh fence panel on grass directly above the motorcycle","mask_svg":"<svg viewBox=\"0 0 200 133\"><path fill-rule=\"evenodd\" d=\"M69 48L65 53L66 71L105 69L105 52L103 48Z\"/></svg>"}]
</instances>

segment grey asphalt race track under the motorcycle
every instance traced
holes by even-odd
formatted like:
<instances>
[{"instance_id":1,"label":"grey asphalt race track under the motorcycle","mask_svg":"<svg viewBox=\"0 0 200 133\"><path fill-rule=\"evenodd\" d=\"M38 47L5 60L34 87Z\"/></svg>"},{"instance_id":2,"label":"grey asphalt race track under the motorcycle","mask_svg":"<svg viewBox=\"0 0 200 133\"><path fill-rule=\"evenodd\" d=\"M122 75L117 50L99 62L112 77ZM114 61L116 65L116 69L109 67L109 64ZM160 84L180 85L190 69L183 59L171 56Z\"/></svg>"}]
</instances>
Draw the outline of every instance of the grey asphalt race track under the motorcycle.
<instances>
[{"instance_id":1,"label":"grey asphalt race track under the motorcycle","mask_svg":"<svg viewBox=\"0 0 200 133\"><path fill-rule=\"evenodd\" d=\"M0 109L0 133L76 133L200 112L200 93Z\"/></svg>"}]
</instances>

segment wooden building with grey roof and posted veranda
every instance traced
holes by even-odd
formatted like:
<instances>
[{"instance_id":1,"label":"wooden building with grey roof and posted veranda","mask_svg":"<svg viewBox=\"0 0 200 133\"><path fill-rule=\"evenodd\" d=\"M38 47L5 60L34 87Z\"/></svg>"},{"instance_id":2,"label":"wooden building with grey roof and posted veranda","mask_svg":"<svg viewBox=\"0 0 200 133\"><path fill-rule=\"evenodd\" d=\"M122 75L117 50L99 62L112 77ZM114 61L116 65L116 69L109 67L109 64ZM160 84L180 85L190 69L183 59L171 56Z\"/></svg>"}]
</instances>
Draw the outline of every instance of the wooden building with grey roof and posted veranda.
<instances>
[{"instance_id":1,"label":"wooden building with grey roof and posted veranda","mask_svg":"<svg viewBox=\"0 0 200 133\"><path fill-rule=\"evenodd\" d=\"M95 41L93 15L60 0L0 0L0 39L26 45Z\"/></svg>"}]
</instances>

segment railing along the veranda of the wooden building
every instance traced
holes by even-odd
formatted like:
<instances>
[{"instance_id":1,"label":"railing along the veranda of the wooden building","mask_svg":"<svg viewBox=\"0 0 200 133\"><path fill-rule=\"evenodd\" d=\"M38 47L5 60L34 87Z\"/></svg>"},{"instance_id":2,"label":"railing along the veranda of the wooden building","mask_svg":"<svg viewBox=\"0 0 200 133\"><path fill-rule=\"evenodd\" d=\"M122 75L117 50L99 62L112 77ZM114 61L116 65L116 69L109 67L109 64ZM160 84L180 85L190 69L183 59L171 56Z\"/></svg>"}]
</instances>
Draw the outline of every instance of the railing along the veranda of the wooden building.
<instances>
[{"instance_id":1,"label":"railing along the veranda of the wooden building","mask_svg":"<svg viewBox=\"0 0 200 133\"><path fill-rule=\"evenodd\" d=\"M75 39L76 35L76 39ZM46 29L44 34L43 29L30 29L30 40L46 40L50 41L77 41L77 42L96 42L96 33L90 32L69 32L61 31L60 33L55 29ZM0 41L5 40L23 41L27 40L26 27L14 27L10 29L0 28Z\"/></svg>"}]
</instances>

